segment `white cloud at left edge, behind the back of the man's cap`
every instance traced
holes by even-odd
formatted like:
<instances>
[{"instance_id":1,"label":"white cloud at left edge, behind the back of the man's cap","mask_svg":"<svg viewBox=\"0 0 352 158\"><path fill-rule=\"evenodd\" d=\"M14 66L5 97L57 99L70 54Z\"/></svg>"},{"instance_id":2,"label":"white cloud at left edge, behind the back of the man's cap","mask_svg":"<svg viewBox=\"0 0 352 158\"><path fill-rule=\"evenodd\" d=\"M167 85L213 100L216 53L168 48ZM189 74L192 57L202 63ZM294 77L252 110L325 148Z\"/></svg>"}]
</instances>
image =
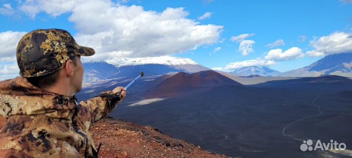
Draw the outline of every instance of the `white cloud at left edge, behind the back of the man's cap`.
<instances>
[{"instance_id":1,"label":"white cloud at left edge, behind the back of the man's cap","mask_svg":"<svg viewBox=\"0 0 352 158\"><path fill-rule=\"evenodd\" d=\"M0 62L16 61L17 44L25 34L26 32L0 32Z\"/></svg>"}]
</instances>

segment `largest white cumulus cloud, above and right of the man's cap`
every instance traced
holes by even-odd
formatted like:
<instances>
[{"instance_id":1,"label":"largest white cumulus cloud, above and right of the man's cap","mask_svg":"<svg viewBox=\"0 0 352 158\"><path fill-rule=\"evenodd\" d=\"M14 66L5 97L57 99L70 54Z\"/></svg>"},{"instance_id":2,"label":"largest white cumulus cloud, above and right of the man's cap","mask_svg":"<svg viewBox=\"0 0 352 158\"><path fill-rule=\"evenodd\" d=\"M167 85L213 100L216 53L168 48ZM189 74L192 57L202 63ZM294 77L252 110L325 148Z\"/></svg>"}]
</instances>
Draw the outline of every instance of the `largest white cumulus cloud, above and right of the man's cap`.
<instances>
[{"instance_id":1,"label":"largest white cumulus cloud, above and right of the man's cap","mask_svg":"<svg viewBox=\"0 0 352 158\"><path fill-rule=\"evenodd\" d=\"M19 8L28 16L70 13L78 44L92 47L87 59L167 56L219 42L223 26L188 19L184 8L147 11L142 6L112 0L25 0Z\"/></svg>"}]
</instances>

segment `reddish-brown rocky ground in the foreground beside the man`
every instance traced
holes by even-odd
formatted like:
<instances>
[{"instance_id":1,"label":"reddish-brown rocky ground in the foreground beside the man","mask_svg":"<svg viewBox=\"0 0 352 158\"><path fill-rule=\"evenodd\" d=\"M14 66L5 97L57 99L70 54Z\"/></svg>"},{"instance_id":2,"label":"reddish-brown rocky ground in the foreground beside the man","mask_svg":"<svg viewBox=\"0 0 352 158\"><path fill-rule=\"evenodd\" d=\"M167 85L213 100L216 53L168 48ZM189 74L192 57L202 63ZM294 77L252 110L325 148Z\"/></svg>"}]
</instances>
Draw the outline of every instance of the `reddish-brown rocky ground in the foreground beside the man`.
<instances>
[{"instance_id":1,"label":"reddish-brown rocky ground in the foreground beside the man","mask_svg":"<svg viewBox=\"0 0 352 158\"><path fill-rule=\"evenodd\" d=\"M96 145L103 144L100 158L228 158L162 134L154 127L124 120L102 119L92 126L90 133Z\"/></svg>"}]
</instances>

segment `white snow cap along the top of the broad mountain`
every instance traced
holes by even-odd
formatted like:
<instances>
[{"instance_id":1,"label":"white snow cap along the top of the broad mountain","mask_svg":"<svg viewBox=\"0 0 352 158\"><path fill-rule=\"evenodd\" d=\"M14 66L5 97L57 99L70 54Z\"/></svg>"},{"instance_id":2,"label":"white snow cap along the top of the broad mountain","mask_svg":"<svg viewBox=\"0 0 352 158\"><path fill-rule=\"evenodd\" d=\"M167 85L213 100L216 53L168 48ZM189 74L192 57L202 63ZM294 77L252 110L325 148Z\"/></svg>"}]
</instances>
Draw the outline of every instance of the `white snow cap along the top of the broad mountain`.
<instances>
[{"instance_id":1,"label":"white snow cap along the top of the broad mountain","mask_svg":"<svg viewBox=\"0 0 352 158\"><path fill-rule=\"evenodd\" d=\"M144 64L162 64L162 65L198 65L197 62L189 58L181 57L149 57L149 58L124 58L124 59L113 59L107 60L108 63L114 66L133 66L133 65L144 65Z\"/></svg>"}]
</instances>

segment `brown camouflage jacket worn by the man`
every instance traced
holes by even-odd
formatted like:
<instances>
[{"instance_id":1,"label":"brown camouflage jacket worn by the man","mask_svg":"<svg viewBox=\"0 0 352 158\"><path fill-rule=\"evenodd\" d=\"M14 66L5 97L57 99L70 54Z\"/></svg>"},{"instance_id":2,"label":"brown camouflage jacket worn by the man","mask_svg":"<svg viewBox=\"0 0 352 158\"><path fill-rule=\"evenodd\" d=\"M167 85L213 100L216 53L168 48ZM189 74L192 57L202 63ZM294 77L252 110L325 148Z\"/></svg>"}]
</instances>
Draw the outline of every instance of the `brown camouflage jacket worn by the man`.
<instances>
[{"instance_id":1,"label":"brown camouflage jacket worn by the man","mask_svg":"<svg viewBox=\"0 0 352 158\"><path fill-rule=\"evenodd\" d=\"M0 82L0 158L94 158L93 122L117 104L112 91L82 101L39 89L25 78Z\"/></svg>"}]
</instances>

